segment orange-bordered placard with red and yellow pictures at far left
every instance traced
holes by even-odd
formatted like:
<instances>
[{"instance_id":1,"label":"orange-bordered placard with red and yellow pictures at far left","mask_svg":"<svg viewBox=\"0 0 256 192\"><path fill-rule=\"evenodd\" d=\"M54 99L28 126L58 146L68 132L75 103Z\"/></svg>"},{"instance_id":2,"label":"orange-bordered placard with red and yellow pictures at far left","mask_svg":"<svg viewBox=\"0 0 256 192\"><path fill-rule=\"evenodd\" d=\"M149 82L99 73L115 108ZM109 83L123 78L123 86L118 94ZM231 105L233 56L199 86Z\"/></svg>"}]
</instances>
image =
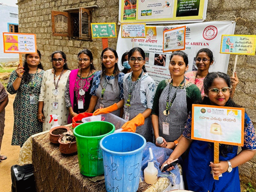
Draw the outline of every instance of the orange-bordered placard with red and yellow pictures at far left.
<instances>
[{"instance_id":1,"label":"orange-bordered placard with red and yellow pictures at far left","mask_svg":"<svg viewBox=\"0 0 256 192\"><path fill-rule=\"evenodd\" d=\"M35 53L36 35L3 32L4 53Z\"/></svg>"}]
</instances>

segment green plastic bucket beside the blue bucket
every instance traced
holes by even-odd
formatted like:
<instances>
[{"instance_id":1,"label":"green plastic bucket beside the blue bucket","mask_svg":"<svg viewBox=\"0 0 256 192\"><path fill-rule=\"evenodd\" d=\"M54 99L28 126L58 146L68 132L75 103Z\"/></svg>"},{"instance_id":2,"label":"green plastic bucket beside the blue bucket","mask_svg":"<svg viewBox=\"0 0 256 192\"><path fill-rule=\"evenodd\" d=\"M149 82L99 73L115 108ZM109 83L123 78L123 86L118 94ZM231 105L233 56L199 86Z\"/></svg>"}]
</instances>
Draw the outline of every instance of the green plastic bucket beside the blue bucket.
<instances>
[{"instance_id":1,"label":"green plastic bucket beside the blue bucket","mask_svg":"<svg viewBox=\"0 0 256 192\"><path fill-rule=\"evenodd\" d=\"M93 121L75 127L80 172L88 177L104 174L100 140L113 133L115 126L106 121Z\"/></svg>"}]
</instances>

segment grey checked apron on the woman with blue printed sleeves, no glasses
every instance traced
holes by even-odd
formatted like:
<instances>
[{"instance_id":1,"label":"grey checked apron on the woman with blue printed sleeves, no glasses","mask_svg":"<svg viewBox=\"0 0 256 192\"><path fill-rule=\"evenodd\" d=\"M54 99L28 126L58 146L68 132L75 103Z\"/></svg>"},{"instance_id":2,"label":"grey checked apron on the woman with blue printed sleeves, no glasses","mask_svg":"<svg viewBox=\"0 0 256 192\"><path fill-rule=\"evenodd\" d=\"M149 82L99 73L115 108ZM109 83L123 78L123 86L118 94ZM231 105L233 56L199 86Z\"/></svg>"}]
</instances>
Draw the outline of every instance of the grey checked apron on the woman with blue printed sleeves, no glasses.
<instances>
[{"instance_id":1,"label":"grey checked apron on the woman with blue printed sleeves, no glasses","mask_svg":"<svg viewBox=\"0 0 256 192\"><path fill-rule=\"evenodd\" d=\"M96 96L99 98L98 102L95 106L95 110L100 108L100 103L102 103L105 107L108 107L110 105L113 105L114 103L117 103L120 101L119 95L120 95L120 88L118 85L117 78L107 80L106 89L103 95L103 99L101 99L101 90L103 85L106 83L105 78L101 78L100 85L98 89L96 89ZM120 115L120 109L117 109L116 111L111 112L112 114L119 116Z\"/></svg>"}]
</instances>

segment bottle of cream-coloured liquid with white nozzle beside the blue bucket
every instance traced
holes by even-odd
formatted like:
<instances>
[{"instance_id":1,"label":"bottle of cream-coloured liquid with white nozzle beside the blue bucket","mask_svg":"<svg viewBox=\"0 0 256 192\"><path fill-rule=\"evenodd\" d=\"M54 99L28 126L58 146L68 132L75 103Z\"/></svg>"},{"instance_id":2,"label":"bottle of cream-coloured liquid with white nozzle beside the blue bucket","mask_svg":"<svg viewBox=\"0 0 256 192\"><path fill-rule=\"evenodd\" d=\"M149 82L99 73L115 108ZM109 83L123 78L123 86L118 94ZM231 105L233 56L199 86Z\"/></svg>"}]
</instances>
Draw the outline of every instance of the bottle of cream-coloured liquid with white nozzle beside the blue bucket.
<instances>
[{"instance_id":1,"label":"bottle of cream-coloured liquid with white nozzle beside the blue bucket","mask_svg":"<svg viewBox=\"0 0 256 192\"><path fill-rule=\"evenodd\" d=\"M144 179L145 182L148 184L154 184L157 181L157 174L158 171L156 169L156 167L154 166L154 160L153 160L153 153L152 153L152 149L149 149L149 158L150 160L148 161L148 166L144 169Z\"/></svg>"}]
</instances>

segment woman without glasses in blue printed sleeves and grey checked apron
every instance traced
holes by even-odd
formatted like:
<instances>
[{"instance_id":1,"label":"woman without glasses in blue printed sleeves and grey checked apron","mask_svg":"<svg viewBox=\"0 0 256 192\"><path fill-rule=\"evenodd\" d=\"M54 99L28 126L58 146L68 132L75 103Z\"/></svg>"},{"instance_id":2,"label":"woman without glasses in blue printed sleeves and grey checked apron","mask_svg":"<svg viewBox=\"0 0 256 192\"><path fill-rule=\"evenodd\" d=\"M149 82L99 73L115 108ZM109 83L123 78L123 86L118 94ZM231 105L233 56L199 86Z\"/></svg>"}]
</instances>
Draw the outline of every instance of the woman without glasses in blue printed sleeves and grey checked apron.
<instances>
[{"instance_id":1,"label":"woman without glasses in blue printed sleeves and grey checked apron","mask_svg":"<svg viewBox=\"0 0 256 192\"><path fill-rule=\"evenodd\" d=\"M92 97L86 112L92 113L104 108L105 111L102 113L112 112L120 116L120 108L124 105L124 74L118 69L116 50L107 47L101 52L101 60L102 70L94 74L90 92Z\"/></svg>"}]
</instances>

